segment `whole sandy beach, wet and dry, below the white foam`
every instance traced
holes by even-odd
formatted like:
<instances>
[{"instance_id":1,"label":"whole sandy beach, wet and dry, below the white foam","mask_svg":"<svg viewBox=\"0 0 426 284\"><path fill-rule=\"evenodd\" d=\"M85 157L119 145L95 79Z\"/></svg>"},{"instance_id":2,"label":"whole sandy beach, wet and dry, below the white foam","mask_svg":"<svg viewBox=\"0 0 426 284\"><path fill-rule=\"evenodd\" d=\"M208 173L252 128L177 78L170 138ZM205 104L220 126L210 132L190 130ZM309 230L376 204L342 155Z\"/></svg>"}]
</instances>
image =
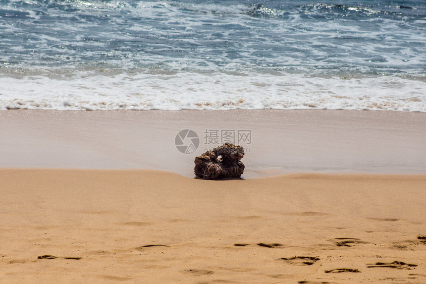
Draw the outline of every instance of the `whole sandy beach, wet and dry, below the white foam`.
<instances>
[{"instance_id":1,"label":"whole sandy beach, wet and dry, below the white foam","mask_svg":"<svg viewBox=\"0 0 426 284\"><path fill-rule=\"evenodd\" d=\"M0 283L425 283L425 126L403 112L2 111ZM182 129L199 135L191 154ZM194 178L206 130L251 130L243 179Z\"/></svg>"}]
</instances>

